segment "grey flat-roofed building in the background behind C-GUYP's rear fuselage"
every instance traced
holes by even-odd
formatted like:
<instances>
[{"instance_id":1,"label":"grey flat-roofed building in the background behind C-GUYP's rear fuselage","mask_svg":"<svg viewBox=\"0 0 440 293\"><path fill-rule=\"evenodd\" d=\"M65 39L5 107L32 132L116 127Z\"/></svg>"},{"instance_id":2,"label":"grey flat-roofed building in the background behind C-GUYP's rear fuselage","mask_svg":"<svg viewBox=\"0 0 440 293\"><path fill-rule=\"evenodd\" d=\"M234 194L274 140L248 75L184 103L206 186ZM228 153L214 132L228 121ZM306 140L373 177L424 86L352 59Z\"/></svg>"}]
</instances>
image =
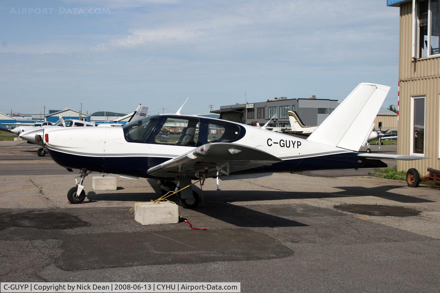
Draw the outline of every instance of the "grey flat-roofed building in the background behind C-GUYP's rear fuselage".
<instances>
[{"instance_id":1,"label":"grey flat-roofed building in the background behind C-GUYP's rear fuselage","mask_svg":"<svg viewBox=\"0 0 440 293\"><path fill-rule=\"evenodd\" d=\"M220 119L234 121L246 125L263 126L275 114L274 120L270 121L271 127L290 127L287 111L297 111L306 126L320 125L328 115L337 107L337 100L316 99L287 99L279 97L268 99L266 102L235 104L220 106L220 110L211 113L220 114Z\"/></svg>"}]
</instances>

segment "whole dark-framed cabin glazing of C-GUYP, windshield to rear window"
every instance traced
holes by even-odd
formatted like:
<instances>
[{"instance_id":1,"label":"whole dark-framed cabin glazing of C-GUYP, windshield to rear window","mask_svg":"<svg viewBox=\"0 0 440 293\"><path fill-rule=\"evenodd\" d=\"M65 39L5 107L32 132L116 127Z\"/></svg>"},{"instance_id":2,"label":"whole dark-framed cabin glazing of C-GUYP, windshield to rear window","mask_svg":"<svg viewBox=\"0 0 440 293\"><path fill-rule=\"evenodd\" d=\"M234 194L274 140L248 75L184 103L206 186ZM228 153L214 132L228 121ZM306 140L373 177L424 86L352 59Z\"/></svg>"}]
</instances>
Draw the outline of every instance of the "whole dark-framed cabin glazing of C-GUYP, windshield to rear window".
<instances>
[{"instance_id":1,"label":"whole dark-framed cabin glazing of C-GUYP, windshield to rear window","mask_svg":"<svg viewBox=\"0 0 440 293\"><path fill-rule=\"evenodd\" d=\"M131 143L155 143L197 147L205 143L241 139L245 128L228 121L204 117L153 115L122 127Z\"/></svg>"}]
</instances>

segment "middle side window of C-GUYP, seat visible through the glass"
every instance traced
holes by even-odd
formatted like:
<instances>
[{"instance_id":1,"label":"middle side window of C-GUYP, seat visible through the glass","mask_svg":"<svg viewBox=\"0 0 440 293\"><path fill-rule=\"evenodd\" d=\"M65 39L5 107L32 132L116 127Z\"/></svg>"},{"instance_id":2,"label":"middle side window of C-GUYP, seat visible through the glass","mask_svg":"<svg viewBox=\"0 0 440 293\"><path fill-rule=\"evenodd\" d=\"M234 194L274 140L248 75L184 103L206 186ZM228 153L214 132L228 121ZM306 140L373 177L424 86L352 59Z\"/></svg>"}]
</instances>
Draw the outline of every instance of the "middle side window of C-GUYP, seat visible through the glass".
<instances>
[{"instance_id":1,"label":"middle side window of C-GUYP, seat visible through the glass","mask_svg":"<svg viewBox=\"0 0 440 293\"><path fill-rule=\"evenodd\" d=\"M200 122L196 119L168 117L155 137L156 143L195 146L198 142Z\"/></svg>"}]
</instances>

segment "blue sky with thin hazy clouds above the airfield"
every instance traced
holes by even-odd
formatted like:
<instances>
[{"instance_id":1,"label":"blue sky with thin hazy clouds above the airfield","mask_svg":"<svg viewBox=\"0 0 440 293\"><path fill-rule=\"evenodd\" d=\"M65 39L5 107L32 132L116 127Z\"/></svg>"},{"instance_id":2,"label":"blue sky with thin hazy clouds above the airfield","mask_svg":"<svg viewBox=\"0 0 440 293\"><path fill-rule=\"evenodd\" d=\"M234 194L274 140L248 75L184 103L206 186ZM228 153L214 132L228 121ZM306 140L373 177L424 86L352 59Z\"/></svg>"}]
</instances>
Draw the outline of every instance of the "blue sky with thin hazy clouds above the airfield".
<instances>
[{"instance_id":1,"label":"blue sky with thin hazy clouds above the airfield","mask_svg":"<svg viewBox=\"0 0 440 293\"><path fill-rule=\"evenodd\" d=\"M23 8L27 10L23 10ZM29 11L32 8L33 11ZM0 0L0 111L150 114L393 88L399 9L385 0ZM159 110L160 109L160 110Z\"/></svg>"}]
</instances>

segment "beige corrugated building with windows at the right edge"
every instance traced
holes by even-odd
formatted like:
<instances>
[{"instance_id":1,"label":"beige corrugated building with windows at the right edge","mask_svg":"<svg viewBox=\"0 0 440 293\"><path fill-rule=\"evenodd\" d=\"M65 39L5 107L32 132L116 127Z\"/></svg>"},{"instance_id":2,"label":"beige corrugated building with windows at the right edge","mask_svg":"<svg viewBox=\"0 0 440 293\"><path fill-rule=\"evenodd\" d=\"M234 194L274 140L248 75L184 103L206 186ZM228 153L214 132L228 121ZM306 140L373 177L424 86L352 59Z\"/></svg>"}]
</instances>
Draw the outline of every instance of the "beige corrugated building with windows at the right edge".
<instances>
[{"instance_id":1,"label":"beige corrugated building with windows at the right edge","mask_svg":"<svg viewBox=\"0 0 440 293\"><path fill-rule=\"evenodd\" d=\"M387 0L400 7L398 154L429 157L398 161L398 170L440 169L440 0Z\"/></svg>"}]
</instances>

